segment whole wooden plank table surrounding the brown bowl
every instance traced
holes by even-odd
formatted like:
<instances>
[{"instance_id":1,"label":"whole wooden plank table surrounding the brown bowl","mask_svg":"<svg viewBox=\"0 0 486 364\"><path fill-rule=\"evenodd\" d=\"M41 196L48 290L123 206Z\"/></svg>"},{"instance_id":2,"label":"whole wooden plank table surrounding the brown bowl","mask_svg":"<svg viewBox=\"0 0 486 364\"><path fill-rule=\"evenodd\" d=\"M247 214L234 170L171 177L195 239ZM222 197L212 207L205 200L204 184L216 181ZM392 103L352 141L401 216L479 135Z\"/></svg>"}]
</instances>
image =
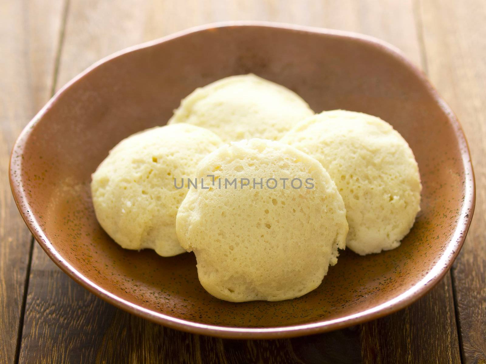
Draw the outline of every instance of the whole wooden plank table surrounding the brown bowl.
<instances>
[{"instance_id":1,"label":"whole wooden plank table surrounding the brown bowl","mask_svg":"<svg viewBox=\"0 0 486 364\"><path fill-rule=\"evenodd\" d=\"M410 307L290 340L191 335L96 298L33 241L10 192L8 161L53 93L113 51L242 19L384 39L427 72L459 116L476 173L475 217L451 272ZM0 29L0 363L486 363L484 0L2 0Z\"/></svg>"}]
</instances>

